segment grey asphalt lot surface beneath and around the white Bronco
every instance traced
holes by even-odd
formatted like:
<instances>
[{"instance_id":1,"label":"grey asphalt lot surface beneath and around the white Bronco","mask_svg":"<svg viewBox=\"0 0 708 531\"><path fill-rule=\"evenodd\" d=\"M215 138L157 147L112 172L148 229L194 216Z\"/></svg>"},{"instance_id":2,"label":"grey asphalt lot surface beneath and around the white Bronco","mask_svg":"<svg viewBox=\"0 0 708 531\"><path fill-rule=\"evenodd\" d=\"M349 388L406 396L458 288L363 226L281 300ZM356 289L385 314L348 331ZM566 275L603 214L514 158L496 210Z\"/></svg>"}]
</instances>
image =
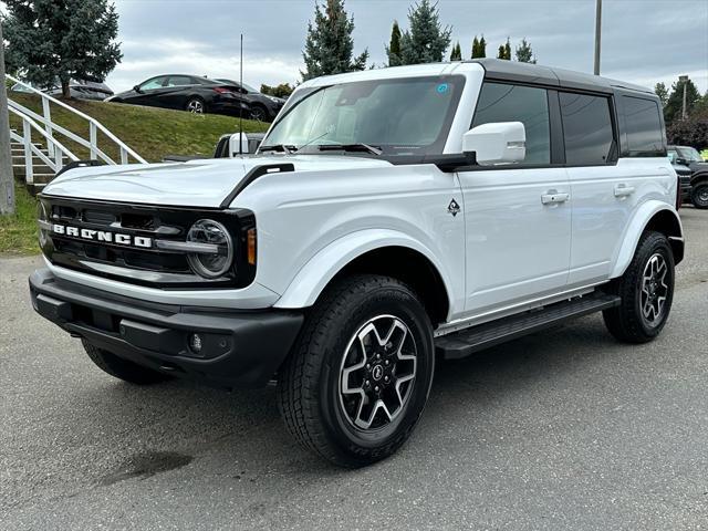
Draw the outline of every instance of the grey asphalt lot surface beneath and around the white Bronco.
<instances>
[{"instance_id":1,"label":"grey asphalt lot surface beneath and around the white Bronco","mask_svg":"<svg viewBox=\"0 0 708 531\"><path fill-rule=\"evenodd\" d=\"M40 259L0 259L0 529L706 529L708 211L681 218L659 340L594 315L447 363L357 471L295 446L272 388L111 378L31 310Z\"/></svg>"}]
</instances>

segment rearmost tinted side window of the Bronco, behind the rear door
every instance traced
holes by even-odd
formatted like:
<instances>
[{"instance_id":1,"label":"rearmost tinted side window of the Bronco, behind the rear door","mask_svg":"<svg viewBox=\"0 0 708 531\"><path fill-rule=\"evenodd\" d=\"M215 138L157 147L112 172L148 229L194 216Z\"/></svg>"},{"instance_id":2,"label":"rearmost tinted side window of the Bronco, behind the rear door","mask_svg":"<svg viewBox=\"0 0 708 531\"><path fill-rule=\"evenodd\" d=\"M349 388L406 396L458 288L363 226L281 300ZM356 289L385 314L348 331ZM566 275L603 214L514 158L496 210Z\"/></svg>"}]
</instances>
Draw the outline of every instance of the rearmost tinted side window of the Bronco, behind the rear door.
<instances>
[{"instance_id":1,"label":"rearmost tinted side window of the Bronco, behind the rear door","mask_svg":"<svg viewBox=\"0 0 708 531\"><path fill-rule=\"evenodd\" d=\"M653 100L623 96L629 156L664 156L659 106Z\"/></svg>"}]
</instances>

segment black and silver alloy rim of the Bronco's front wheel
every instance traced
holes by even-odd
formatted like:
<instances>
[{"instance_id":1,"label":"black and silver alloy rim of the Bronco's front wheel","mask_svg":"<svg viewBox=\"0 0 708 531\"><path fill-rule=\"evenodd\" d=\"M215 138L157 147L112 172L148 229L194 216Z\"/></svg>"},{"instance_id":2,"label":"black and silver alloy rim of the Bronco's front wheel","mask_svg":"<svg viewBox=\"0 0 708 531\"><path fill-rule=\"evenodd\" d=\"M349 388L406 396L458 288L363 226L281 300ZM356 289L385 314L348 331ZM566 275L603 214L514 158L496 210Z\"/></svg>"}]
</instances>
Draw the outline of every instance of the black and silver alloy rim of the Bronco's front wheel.
<instances>
[{"instance_id":1,"label":"black and silver alloy rim of the Bronco's front wheel","mask_svg":"<svg viewBox=\"0 0 708 531\"><path fill-rule=\"evenodd\" d=\"M404 410L415 384L417 350L408 326L378 315L350 340L340 367L340 405L360 430L376 430Z\"/></svg>"}]
</instances>

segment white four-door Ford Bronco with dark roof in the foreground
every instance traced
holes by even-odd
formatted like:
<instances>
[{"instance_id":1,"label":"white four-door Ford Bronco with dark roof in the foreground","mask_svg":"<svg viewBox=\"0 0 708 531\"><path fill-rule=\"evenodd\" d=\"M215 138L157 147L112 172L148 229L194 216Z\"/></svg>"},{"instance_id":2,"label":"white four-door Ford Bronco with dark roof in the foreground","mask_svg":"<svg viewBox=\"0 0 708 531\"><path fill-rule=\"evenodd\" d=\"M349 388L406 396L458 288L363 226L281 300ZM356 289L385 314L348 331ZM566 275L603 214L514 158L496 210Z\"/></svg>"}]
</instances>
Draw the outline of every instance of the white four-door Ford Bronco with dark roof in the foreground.
<instances>
[{"instance_id":1,"label":"white four-door Ford Bronco with dark roof in the foreground","mask_svg":"<svg viewBox=\"0 0 708 531\"><path fill-rule=\"evenodd\" d=\"M653 340L684 256L656 95L509 61L311 80L253 155L74 168L40 199L33 304L98 367L275 379L348 467L404 444L436 358L600 311Z\"/></svg>"}]
</instances>

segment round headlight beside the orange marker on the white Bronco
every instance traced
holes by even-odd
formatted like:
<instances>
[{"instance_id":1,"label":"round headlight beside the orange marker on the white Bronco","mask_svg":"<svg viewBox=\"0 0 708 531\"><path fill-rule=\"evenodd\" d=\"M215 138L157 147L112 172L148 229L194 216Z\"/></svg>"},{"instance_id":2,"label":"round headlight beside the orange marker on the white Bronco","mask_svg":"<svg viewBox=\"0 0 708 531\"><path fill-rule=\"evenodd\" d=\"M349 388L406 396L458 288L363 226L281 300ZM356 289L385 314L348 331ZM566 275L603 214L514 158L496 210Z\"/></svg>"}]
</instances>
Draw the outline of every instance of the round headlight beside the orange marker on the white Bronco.
<instances>
[{"instance_id":1,"label":"round headlight beside the orange marker on the white Bronco","mask_svg":"<svg viewBox=\"0 0 708 531\"><path fill-rule=\"evenodd\" d=\"M210 219L200 219L187 233L190 243L205 243L216 252L192 252L187 261L192 271L205 279L216 279L226 273L233 262L233 241L221 223Z\"/></svg>"}]
</instances>

